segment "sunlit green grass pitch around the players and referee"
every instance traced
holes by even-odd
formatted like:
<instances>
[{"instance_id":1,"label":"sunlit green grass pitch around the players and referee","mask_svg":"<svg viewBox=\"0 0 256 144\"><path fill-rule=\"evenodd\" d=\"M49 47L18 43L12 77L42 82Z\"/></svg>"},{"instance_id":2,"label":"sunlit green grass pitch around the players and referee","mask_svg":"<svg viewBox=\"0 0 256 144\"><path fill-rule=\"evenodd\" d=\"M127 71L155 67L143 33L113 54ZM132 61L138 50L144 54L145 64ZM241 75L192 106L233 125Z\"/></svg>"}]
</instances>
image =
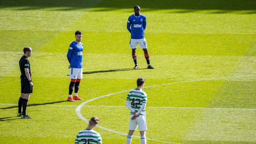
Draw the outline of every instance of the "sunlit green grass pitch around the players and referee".
<instances>
[{"instance_id":1,"label":"sunlit green grass pitch around the players and referee","mask_svg":"<svg viewBox=\"0 0 256 144\"><path fill-rule=\"evenodd\" d=\"M139 69L132 69L126 22L134 5L147 16L145 37L153 70L146 69L139 48ZM133 89L136 79L144 77L145 86L154 86L143 89L148 94L147 143L256 143L255 5L253 0L1 1L0 141L74 143L87 126L76 114L78 105ZM78 95L84 101L71 103L66 101L66 53L76 30L83 32L84 78ZM18 62L25 46L33 48L29 120L15 117ZM166 83L172 84L161 85ZM127 93L86 103L80 112L86 119L98 116L100 126L127 133ZM104 144L125 143L125 135L95 130ZM132 143L140 143L139 138Z\"/></svg>"}]
</instances>

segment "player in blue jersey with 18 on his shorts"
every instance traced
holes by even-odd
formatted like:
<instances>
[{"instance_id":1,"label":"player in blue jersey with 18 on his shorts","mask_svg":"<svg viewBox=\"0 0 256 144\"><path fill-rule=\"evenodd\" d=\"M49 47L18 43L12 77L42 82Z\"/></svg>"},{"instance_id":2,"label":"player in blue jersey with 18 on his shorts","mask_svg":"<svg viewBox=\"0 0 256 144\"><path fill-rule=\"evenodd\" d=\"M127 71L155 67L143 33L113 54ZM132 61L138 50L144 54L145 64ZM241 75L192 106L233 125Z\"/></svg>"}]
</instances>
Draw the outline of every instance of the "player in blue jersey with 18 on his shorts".
<instances>
[{"instance_id":1,"label":"player in blue jersey with 18 on his shorts","mask_svg":"<svg viewBox=\"0 0 256 144\"><path fill-rule=\"evenodd\" d=\"M132 58L135 63L134 69L138 68L136 48L137 44L143 49L144 56L147 60L148 68L153 69L150 65L147 42L144 36L144 30L146 29L146 16L140 13L140 7L134 6L134 14L129 16L127 21L127 29L131 33L131 40L129 47L132 48Z\"/></svg>"}]
</instances>

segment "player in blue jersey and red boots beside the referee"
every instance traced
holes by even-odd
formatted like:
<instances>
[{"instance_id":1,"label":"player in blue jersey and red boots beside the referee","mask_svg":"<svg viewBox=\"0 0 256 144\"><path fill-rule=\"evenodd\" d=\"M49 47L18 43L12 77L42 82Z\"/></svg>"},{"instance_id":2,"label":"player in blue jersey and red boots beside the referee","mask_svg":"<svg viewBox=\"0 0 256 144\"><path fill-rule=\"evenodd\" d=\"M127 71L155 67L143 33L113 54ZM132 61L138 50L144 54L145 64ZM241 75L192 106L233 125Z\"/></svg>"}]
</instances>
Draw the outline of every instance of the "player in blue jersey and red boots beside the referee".
<instances>
[{"instance_id":1,"label":"player in blue jersey and red boots beside the referee","mask_svg":"<svg viewBox=\"0 0 256 144\"><path fill-rule=\"evenodd\" d=\"M82 40L82 32L76 31L75 32L76 40L73 41L68 48L68 62L69 65L69 78L71 78L71 82L69 84L69 94L68 94L68 101L75 101L75 100L83 100L77 96L77 92L79 89L80 81L83 78L83 43ZM72 98L72 92L75 85L75 93L74 97Z\"/></svg>"}]
</instances>

